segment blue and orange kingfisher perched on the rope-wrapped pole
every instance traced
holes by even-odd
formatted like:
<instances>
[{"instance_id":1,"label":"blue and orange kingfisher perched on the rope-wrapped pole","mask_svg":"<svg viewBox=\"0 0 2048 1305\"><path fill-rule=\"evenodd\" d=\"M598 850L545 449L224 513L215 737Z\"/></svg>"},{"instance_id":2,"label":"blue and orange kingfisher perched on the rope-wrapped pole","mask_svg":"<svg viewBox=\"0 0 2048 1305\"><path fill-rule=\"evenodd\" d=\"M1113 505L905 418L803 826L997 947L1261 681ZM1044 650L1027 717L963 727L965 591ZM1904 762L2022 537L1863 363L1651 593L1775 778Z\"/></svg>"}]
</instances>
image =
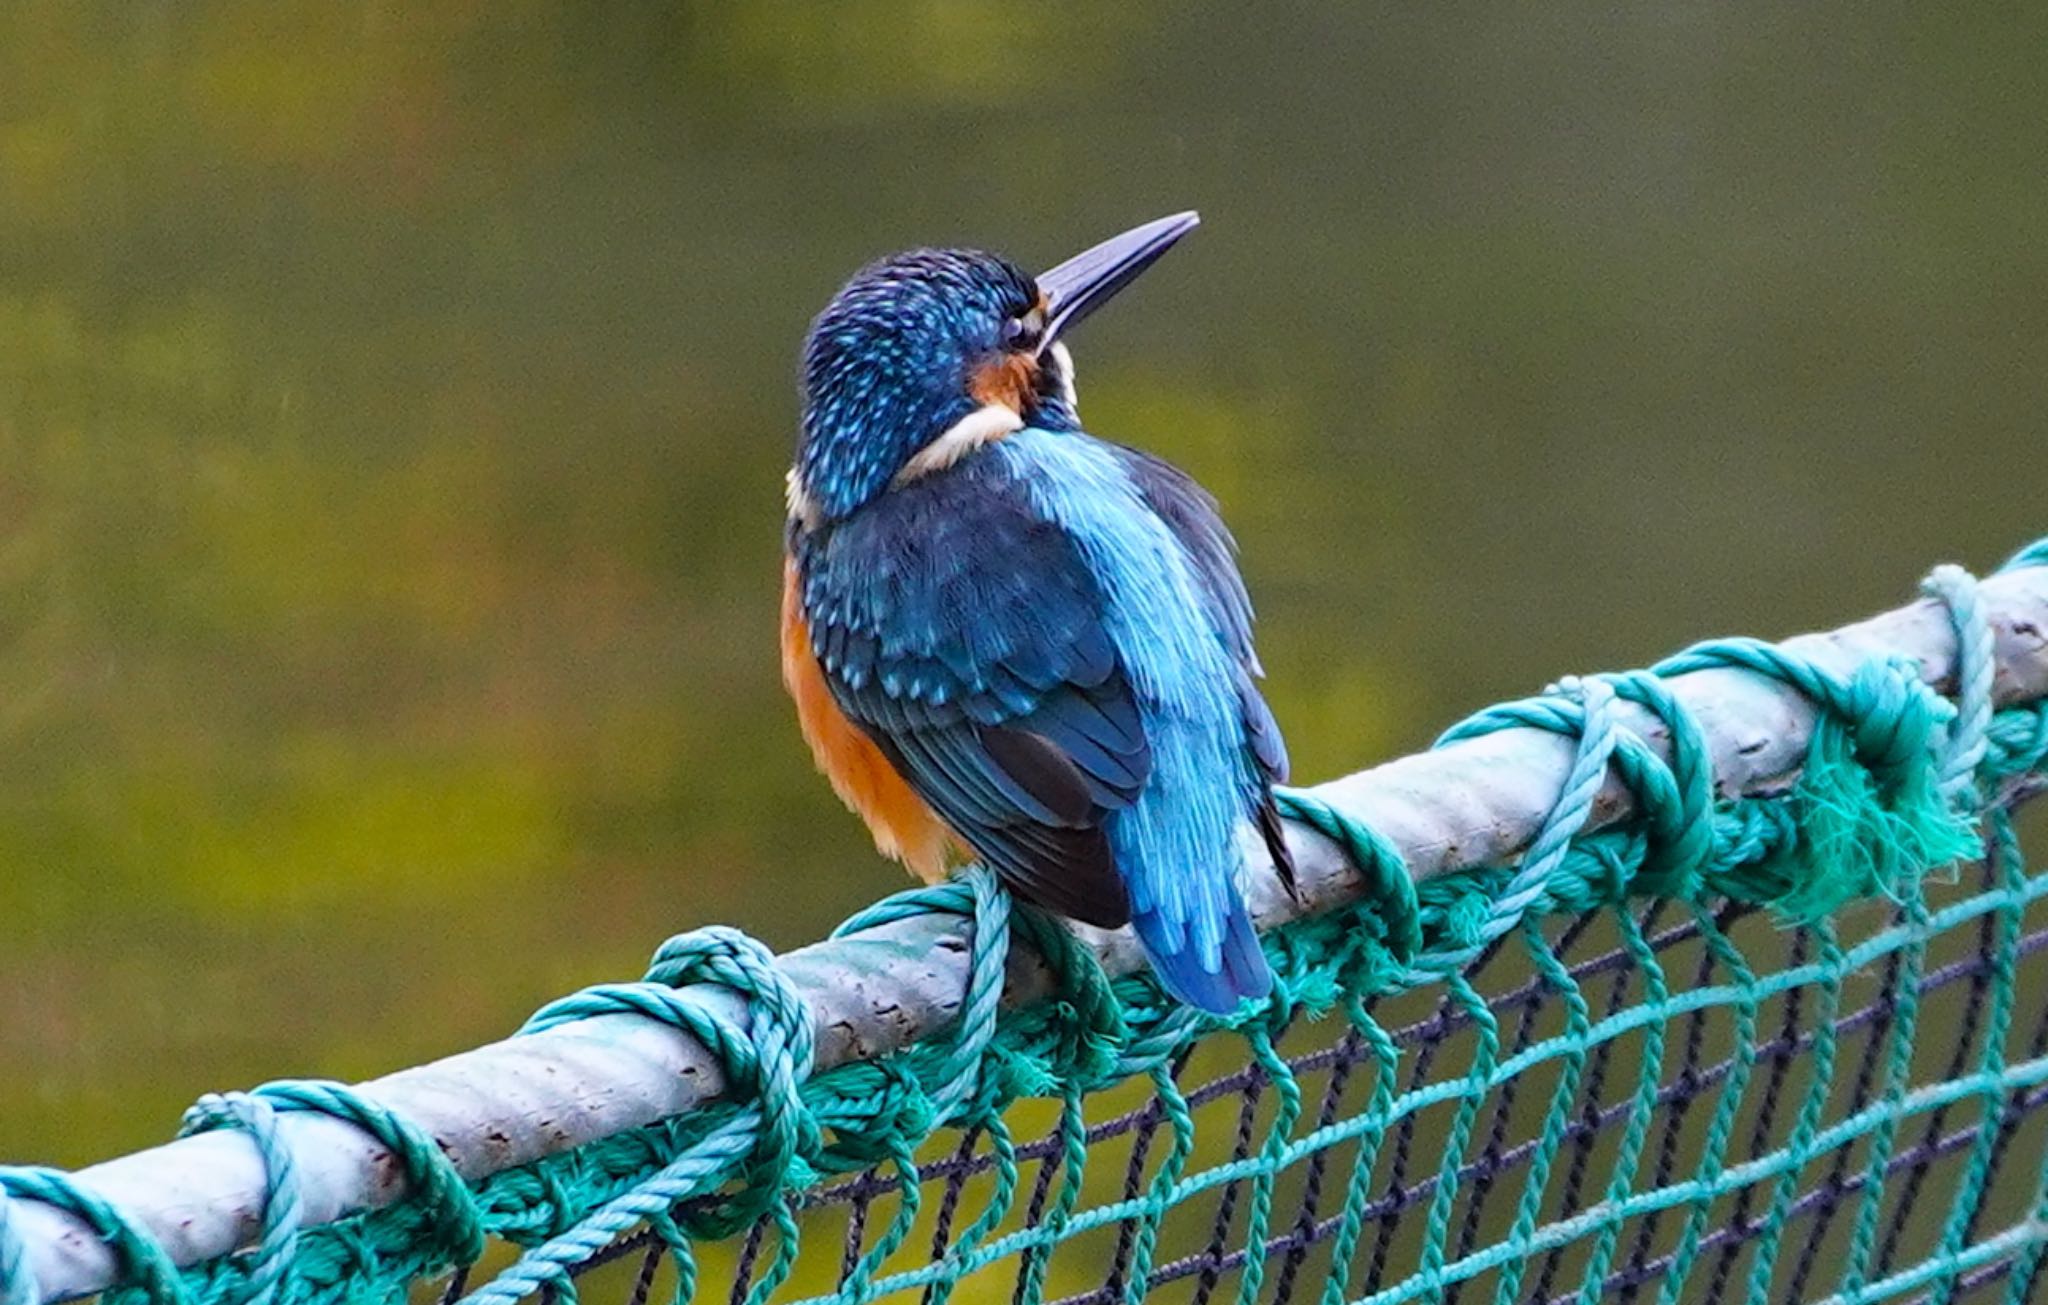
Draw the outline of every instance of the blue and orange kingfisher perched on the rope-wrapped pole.
<instances>
[{"instance_id":1,"label":"blue and orange kingfisher perched on the rope-wrapped pole","mask_svg":"<svg viewBox=\"0 0 2048 1305\"><path fill-rule=\"evenodd\" d=\"M1130 926L1159 983L1272 990L1239 832L1294 891L1286 744L1217 500L1090 434L1067 334L1198 223L1036 277L971 248L881 258L805 336L782 680L819 770L926 881Z\"/></svg>"}]
</instances>

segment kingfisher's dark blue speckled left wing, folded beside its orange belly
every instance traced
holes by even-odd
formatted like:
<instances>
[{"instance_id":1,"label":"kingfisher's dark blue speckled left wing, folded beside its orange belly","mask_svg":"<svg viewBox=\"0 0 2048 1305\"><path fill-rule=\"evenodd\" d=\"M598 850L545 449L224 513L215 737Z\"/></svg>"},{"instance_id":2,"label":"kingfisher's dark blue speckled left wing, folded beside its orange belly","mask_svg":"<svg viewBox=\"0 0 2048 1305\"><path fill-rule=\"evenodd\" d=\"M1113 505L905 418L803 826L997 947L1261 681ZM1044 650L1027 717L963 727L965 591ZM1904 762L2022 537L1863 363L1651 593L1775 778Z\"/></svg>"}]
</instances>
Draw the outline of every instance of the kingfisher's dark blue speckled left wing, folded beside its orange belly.
<instances>
[{"instance_id":1,"label":"kingfisher's dark blue speckled left wing, folded beside its orange belly","mask_svg":"<svg viewBox=\"0 0 2048 1305\"><path fill-rule=\"evenodd\" d=\"M1024 897L1128 922L1104 822L1143 791L1151 750L1073 541L971 459L791 549L848 719Z\"/></svg>"}]
</instances>

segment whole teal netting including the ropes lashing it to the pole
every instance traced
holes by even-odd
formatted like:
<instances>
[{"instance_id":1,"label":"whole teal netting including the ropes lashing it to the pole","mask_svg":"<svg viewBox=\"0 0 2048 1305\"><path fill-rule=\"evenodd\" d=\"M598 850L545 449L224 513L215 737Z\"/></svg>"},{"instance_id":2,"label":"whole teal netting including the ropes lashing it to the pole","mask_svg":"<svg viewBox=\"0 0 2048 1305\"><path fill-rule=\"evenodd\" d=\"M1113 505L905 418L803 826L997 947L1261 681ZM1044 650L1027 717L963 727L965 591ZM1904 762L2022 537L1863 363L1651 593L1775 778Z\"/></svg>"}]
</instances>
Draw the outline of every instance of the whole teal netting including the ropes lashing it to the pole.
<instances>
[{"instance_id":1,"label":"whole teal netting including the ropes lashing it to the pole","mask_svg":"<svg viewBox=\"0 0 2048 1305\"><path fill-rule=\"evenodd\" d=\"M2036 545L2015 565L2042 561ZM244 1129L264 1157L260 1246L178 1270L70 1176L0 1170L0 1301L39 1301L8 1196L94 1225L127 1274L111 1299L135 1305L2025 1301L2048 1244L2048 875L2013 811L2048 766L2048 705L1993 713L1972 582L1946 567L1931 592L1958 633L1952 701L1915 666L1843 678L1737 639L1466 721L1446 738L1575 746L1509 867L1415 885L1370 830L1288 795L1368 891L1276 930L1276 998L1231 1020L1112 981L973 873L848 922L969 916L958 1026L813 1074L807 1006L766 949L698 930L641 983L528 1028L676 1024L725 1063L727 1102L471 1188L338 1084L209 1098L188 1129ZM1788 791L1716 797L1663 684L1708 666L1812 703ZM1665 727L1669 762L1622 701ZM1610 774L1638 815L1595 832ZM999 1010L1012 944L1051 963L1055 1000ZM737 992L750 1018L672 1000L690 983ZM375 1133L412 1196L301 1227L287 1110Z\"/></svg>"}]
</instances>

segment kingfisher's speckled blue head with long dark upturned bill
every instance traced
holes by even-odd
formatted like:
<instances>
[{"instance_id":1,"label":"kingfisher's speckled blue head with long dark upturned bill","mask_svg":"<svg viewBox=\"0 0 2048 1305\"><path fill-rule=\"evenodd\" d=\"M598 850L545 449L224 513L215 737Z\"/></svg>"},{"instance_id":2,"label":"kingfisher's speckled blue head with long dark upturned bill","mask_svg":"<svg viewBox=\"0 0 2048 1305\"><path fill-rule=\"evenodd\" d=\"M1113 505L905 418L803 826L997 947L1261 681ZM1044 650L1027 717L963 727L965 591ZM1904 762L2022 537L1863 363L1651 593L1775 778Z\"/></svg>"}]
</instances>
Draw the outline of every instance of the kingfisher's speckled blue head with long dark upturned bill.
<instances>
[{"instance_id":1,"label":"kingfisher's speckled blue head with long dark upturned bill","mask_svg":"<svg viewBox=\"0 0 2048 1305\"><path fill-rule=\"evenodd\" d=\"M791 518L836 520L1024 426L1075 428L1061 336L1194 225L1161 217L1038 277L981 250L911 250L856 272L803 346Z\"/></svg>"}]
</instances>

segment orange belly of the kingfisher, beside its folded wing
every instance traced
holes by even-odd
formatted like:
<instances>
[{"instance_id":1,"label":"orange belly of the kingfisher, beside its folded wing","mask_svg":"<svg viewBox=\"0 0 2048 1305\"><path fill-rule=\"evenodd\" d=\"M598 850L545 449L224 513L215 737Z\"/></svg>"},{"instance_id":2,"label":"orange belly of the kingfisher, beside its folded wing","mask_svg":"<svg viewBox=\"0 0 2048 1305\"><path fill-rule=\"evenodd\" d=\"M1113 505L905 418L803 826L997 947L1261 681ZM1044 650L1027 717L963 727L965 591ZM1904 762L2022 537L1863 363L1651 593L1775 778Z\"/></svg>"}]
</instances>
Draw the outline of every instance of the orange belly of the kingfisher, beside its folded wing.
<instances>
[{"instance_id":1,"label":"orange belly of the kingfisher, beside its folded wing","mask_svg":"<svg viewBox=\"0 0 2048 1305\"><path fill-rule=\"evenodd\" d=\"M811 629L797 600L797 565L791 561L782 563L782 684L797 701L797 723L817 768L831 781L840 801L868 822L877 850L901 860L926 883L944 879L961 838L911 793L881 748L831 701L825 672L811 651Z\"/></svg>"}]
</instances>

